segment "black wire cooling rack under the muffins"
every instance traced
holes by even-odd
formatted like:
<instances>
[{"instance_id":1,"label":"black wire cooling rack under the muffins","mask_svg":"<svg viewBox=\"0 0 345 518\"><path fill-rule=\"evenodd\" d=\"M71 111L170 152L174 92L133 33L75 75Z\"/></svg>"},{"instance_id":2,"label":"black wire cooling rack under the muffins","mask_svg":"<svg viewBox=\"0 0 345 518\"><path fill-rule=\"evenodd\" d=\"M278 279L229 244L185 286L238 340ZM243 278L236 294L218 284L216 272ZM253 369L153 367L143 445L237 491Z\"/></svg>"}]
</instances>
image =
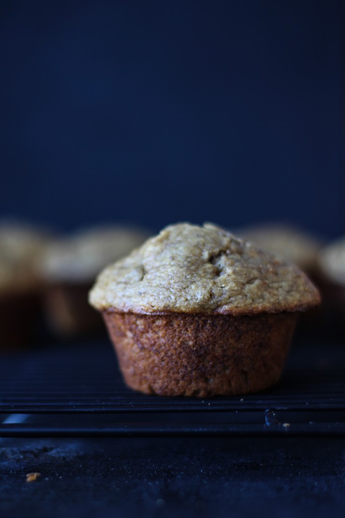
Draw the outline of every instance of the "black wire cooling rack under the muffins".
<instances>
[{"instance_id":1,"label":"black wire cooling rack under the muffins","mask_svg":"<svg viewBox=\"0 0 345 518\"><path fill-rule=\"evenodd\" d=\"M299 342L272 389L199 399L127 389L107 341L51 346L0 356L0 414L0 437L345 436L345 353Z\"/></svg>"}]
</instances>

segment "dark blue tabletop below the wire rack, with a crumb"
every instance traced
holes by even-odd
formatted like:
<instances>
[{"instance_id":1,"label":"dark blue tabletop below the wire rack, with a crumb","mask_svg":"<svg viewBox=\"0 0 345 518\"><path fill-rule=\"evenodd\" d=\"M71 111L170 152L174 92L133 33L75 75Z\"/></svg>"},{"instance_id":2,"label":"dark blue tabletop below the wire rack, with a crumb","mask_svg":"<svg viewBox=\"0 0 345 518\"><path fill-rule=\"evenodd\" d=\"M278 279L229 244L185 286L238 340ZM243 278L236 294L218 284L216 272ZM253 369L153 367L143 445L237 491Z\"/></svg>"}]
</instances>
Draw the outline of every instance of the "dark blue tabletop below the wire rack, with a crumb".
<instances>
[{"instance_id":1,"label":"dark blue tabletop below the wire rack, with a crumb","mask_svg":"<svg viewBox=\"0 0 345 518\"><path fill-rule=\"evenodd\" d=\"M343 516L344 447L344 439L3 440L0 514ZM26 482L34 471L40 478Z\"/></svg>"}]
</instances>

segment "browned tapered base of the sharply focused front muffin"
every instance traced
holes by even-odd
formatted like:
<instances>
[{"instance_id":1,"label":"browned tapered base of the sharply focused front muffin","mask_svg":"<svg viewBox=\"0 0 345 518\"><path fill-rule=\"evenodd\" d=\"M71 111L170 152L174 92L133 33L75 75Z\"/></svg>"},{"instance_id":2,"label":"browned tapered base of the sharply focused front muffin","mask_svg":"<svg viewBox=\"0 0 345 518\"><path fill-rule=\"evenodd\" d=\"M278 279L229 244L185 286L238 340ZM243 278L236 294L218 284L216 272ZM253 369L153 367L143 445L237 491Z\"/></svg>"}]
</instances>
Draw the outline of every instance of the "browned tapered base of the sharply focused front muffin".
<instances>
[{"instance_id":1,"label":"browned tapered base of the sharply focused front muffin","mask_svg":"<svg viewBox=\"0 0 345 518\"><path fill-rule=\"evenodd\" d=\"M128 386L162 396L256 392L279 379L298 313L103 311Z\"/></svg>"}]
</instances>

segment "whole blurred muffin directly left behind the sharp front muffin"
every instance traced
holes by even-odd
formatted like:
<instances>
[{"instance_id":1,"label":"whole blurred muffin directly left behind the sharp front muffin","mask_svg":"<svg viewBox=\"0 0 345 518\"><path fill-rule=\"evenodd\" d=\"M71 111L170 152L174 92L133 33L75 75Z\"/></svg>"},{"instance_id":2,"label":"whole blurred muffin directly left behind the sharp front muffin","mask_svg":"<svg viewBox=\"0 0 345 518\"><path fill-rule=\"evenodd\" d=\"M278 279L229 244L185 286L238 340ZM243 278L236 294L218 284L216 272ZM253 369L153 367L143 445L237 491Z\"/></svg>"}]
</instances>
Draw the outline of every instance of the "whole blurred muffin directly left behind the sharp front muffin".
<instances>
[{"instance_id":1,"label":"whole blurred muffin directly left behind the sharp front muffin","mask_svg":"<svg viewBox=\"0 0 345 518\"><path fill-rule=\"evenodd\" d=\"M58 337L71 338L103 329L87 293L104 266L140 246L149 233L140 228L102 225L52 243L40 262L45 284L44 312Z\"/></svg>"}]
</instances>

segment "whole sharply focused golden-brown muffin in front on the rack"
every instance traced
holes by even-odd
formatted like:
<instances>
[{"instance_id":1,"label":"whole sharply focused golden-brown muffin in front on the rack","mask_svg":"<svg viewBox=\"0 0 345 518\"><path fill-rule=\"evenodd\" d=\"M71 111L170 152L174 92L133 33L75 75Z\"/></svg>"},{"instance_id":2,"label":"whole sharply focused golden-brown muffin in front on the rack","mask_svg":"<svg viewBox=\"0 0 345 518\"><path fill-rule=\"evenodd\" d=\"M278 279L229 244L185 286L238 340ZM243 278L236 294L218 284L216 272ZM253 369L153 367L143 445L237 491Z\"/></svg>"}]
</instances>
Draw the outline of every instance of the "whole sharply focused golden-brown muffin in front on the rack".
<instances>
[{"instance_id":1,"label":"whole sharply focused golden-brown muffin in front on the rack","mask_svg":"<svg viewBox=\"0 0 345 518\"><path fill-rule=\"evenodd\" d=\"M320 297L282 258L215 225L181 223L104 269L89 301L128 386L205 397L274 384L298 313Z\"/></svg>"}]
</instances>

